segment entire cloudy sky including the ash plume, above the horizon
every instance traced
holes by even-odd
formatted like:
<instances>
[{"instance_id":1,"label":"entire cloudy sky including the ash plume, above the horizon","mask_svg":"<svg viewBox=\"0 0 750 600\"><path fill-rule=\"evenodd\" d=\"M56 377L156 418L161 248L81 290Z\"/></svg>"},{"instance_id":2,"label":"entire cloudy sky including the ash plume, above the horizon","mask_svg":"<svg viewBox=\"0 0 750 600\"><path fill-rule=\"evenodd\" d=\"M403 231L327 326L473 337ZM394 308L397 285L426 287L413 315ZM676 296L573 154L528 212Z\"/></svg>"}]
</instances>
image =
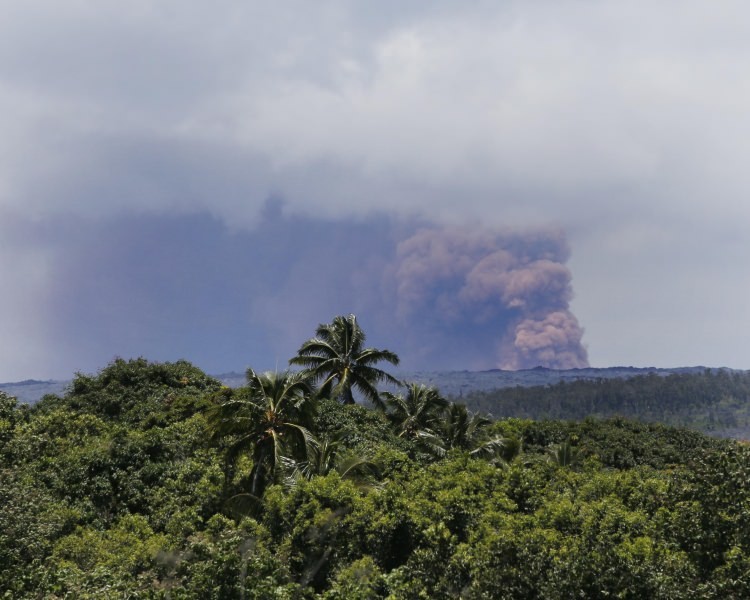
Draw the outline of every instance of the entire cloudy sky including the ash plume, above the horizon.
<instances>
[{"instance_id":1,"label":"entire cloudy sky including the ash plume, above the horizon","mask_svg":"<svg viewBox=\"0 0 750 600\"><path fill-rule=\"evenodd\" d=\"M0 3L0 381L750 368L750 6Z\"/></svg>"}]
</instances>

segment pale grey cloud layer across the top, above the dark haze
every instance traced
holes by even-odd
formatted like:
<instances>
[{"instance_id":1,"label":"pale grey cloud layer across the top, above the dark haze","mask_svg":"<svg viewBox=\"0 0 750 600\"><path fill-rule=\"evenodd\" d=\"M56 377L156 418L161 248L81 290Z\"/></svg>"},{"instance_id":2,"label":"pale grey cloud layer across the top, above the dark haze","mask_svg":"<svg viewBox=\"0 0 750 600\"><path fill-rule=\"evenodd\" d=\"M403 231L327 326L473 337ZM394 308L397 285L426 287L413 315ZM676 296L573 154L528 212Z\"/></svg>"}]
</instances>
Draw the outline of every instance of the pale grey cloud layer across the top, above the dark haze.
<instances>
[{"instance_id":1,"label":"pale grey cloud layer across the top, above the dark haze","mask_svg":"<svg viewBox=\"0 0 750 600\"><path fill-rule=\"evenodd\" d=\"M125 139L138 142L121 147L131 153L244 161L258 180L239 179L244 203L163 188L131 202L197 202L245 223L273 188L297 211L361 215L379 203L568 227L571 210L602 218L621 202L673 215L687 201L703 215L696 194L722 181L714 207L748 215L733 158L750 139L737 4L394 4L377 16L344 2L6 5L0 153L5 201L20 206L69 209L53 190L62 179L85 191L94 167L126 183L132 159L108 151ZM80 212L102 203L76 196ZM498 198L502 214L488 217Z\"/></svg>"}]
</instances>

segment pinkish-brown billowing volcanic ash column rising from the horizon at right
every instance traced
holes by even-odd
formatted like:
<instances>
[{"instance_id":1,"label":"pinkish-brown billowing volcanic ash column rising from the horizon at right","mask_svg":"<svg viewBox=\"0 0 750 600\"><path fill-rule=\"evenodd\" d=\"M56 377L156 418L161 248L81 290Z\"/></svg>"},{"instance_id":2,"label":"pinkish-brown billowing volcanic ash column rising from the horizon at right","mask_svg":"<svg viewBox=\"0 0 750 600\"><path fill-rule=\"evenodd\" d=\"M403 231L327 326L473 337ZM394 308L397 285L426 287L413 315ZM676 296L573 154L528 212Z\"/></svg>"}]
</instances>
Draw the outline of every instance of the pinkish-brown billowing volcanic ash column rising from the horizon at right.
<instances>
[{"instance_id":1,"label":"pinkish-brown billowing volcanic ash column rising from the horizon at right","mask_svg":"<svg viewBox=\"0 0 750 600\"><path fill-rule=\"evenodd\" d=\"M415 232L398 244L391 271L411 350L441 367L588 366L569 309L568 256L559 231Z\"/></svg>"}]
</instances>

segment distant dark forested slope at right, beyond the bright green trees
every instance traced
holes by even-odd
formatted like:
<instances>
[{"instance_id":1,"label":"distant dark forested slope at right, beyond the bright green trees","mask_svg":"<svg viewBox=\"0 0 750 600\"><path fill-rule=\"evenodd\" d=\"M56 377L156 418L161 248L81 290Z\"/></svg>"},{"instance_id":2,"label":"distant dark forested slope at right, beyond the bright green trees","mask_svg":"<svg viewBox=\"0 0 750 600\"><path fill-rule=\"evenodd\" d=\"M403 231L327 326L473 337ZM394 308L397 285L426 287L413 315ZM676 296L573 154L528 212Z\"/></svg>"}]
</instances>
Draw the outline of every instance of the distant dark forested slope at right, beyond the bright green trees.
<instances>
[{"instance_id":1,"label":"distant dark forested slope at right, beyond the bright green trees","mask_svg":"<svg viewBox=\"0 0 750 600\"><path fill-rule=\"evenodd\" d=\"M470 409L527 419L622 416L750 438L750 371L656 374L470 392Z\"/></svg>"}]
</instances>

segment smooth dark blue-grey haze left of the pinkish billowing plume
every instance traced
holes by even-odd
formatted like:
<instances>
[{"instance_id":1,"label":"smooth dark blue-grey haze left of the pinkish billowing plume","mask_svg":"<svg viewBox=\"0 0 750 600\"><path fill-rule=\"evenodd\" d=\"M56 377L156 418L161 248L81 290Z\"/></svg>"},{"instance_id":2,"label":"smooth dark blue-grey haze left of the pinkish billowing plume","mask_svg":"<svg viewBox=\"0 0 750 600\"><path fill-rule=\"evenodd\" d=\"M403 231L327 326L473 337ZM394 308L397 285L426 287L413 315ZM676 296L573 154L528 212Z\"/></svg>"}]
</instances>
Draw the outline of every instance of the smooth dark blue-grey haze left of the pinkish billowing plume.
<instances>
[{"instance_id":1,"label":"smooth dark blue-grey haze left of the pinkish billowing plume","mask_svg":"<svg viewBox=\"0 0 750 600\"><path fill-rule=\"evenodd\" d=\"M205 213L27 223L45 248L46 364L56 376L114 356L283 366L319 321L357 306L358 271L387 256L397 229L285 217L274 203L251 230Z\"/></svg>"}]
</instances>

